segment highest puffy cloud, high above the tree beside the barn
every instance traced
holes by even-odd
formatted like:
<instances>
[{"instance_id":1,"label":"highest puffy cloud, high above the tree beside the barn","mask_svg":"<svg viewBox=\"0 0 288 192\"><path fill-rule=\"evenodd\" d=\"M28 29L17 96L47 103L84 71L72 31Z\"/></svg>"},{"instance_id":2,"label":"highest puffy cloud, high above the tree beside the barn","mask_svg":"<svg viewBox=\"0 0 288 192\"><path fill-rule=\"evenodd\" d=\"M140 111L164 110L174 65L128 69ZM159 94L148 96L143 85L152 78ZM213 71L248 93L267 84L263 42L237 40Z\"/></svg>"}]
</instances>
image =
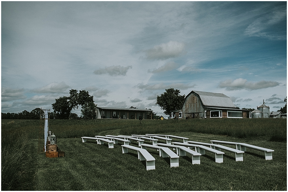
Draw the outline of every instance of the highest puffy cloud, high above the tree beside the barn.
<instances>
[{"instance_id":1,"label":"highest puffy cloud, high above the tree beside the barn","mask_svg":"<svg viewBox=\"0 0 288 192\"><path fill-rule=\"evenodd\" d=\"M179 57L183 54L185 44L177 41L169 41L154 46L152 49L146 50L146 58L151 60L163 60L174 57Z\"/></svg>"}]
</instances>

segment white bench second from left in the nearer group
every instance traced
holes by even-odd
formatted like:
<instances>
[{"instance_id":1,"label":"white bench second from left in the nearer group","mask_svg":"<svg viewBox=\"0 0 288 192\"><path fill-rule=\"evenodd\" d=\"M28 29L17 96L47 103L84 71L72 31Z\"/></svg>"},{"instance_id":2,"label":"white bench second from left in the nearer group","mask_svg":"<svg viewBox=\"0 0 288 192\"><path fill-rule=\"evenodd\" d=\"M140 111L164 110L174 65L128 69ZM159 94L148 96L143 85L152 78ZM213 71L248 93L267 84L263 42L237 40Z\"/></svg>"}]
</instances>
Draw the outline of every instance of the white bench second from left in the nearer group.
<instances>
[{"instance_id":1,"label":"white bench second from left in the nearer group","mask_svg":"<svg viewBox=\"0 0 288 192\"><path fill-rule=\"evenodd\" d=\"M159 150L159 156L166 158L170 158L170 167L178 167L179 166L179 156L176 155L173 151L171 151L167 147L160 147L156 145L148 145L148 144L142 144L141 148L146 149L146 148L152 148L152 149L158 149Z\"/></svg>"}]
</instances>

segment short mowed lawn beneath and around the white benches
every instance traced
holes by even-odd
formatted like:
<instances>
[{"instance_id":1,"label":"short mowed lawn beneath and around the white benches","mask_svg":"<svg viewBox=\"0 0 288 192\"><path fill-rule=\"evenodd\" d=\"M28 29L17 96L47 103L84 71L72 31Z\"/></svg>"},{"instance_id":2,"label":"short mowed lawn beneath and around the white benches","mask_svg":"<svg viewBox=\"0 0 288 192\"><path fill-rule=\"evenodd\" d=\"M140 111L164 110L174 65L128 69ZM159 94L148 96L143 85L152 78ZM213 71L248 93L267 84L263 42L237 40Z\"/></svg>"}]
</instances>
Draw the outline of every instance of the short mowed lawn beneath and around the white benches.
<instances>
[{"instance_id":1,"label":"short mowed lawn beneath and around the white benches","mask_svg":"<svg viewBox=\"0 0 288 192\"><path fill-rule=\"evenodd\" d=\"M107 134L120 133L119 130L99 133ZM148 148L156 159L156 169L147 171L145 161L138 160L136 151L129 150L128 154L122 154L122 142L109 149L106 143L98 145L93 140L82 143L80 137L59 138L57 145L65 151L65 157L46 158L45 154L35 154L32 184L37 191L287 190L287 143L267 141L265 137L239 139L192 132L167 134L206 143L210 143L210 140L249 143L273 149L273 160L265 160L264 152L247 148L243 162L236 162L234 153L223 151L223 163L216 163L215 155L206 152L200 157L201 164L193 165L188 155L179 158L179 167L170 168L169 158L159 157L158 151ZM37 139L33 139L35 148L37 142ZM149 141L145 143L151 144ZM135 142L130 145L138 146ZM231 145L228 147L235 148Z\"/></svg>"}]
</instances>

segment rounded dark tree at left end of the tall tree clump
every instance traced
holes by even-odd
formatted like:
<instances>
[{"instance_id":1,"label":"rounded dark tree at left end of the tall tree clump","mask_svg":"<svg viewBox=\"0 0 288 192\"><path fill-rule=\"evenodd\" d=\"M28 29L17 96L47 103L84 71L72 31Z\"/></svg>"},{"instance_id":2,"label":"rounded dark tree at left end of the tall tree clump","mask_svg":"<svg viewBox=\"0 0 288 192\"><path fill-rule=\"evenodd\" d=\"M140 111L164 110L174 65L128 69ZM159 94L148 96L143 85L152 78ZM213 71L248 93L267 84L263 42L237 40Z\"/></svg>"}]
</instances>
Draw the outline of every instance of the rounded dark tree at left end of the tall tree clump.
<instances>
[{"instance_id":1,"label":"rounded dark tree at left end of the tall tree clump","mask_svg":"<svg viewBox=\"0 0 288 192\"><path fill-rule=\"evenodd\" d=\"M72 110L72 106L66 96L55 99L55 103L52 104L54 115L56 119L68 119Z\"/></svg>"}]
</instances>

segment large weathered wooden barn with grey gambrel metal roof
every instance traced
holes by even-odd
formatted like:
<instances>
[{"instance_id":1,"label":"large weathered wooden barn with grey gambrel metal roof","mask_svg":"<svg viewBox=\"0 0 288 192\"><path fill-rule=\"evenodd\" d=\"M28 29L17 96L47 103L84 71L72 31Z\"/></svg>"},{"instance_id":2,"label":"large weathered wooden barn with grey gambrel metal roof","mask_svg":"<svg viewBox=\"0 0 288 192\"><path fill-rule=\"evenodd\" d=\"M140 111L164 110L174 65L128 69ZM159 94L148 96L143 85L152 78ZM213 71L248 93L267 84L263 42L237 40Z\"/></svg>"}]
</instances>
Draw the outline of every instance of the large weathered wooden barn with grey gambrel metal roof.
<instances>
[{"instance_id":1,"label":"large weathered wooden barn with grey gambrel metal roof","mask_svg":"<svg viewBox=\"0 0 288 192\"><path fill-rule=\"evenodd\" d=\"M238 109L231 98L222 93L191 91L182 108L171 111L179 118L251 118L249 110Z\"/></svg>"}]
</instances>

